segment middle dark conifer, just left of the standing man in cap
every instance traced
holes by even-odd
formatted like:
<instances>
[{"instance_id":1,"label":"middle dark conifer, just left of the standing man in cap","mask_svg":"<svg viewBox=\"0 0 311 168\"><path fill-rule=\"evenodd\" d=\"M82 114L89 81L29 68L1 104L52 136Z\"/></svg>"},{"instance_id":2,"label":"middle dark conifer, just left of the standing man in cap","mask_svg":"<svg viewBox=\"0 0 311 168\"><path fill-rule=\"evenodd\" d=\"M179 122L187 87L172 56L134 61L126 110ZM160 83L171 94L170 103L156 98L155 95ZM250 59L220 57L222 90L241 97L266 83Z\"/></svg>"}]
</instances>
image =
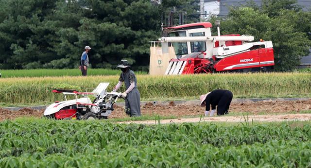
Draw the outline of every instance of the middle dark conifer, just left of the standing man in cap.
<instances>
[{"instance_id":1,"label":"middle dark conifer, just left of the standing man in cap","mask_svg":"<svg viewBox=\"0 0 311 168\"><path fill-rule=\"evenodd\" d=\"M79 27L81 20L88 12L82 8L79 1L59 1L56 4L55 12L49 16L48 28L53 32L52 51L56 53L52 60L45 62L45 68L74 68L78 67L79 59L84 46L79 46ZM89 45L89 44L87 44Z\"/></svg>"}]
</instances>

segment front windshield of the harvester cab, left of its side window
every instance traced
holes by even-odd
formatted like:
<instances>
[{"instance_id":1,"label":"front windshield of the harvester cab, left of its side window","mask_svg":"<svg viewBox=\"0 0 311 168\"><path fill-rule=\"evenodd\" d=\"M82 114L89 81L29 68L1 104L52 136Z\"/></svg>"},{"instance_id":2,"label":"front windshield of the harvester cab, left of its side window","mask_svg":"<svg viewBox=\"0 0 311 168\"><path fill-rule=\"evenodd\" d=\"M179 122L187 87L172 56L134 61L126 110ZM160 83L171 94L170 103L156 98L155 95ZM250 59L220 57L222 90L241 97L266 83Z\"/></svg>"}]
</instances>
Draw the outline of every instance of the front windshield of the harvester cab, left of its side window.
<instances>
[{"instance_id":1,"label":"front windshield of the harvester cab, left of its side window","mask_svg":"<svg viewBox=\"0 0 311 168\"><path fill-rule=\"evenodd\" d=\"M186 31L171 32L169 37L186 37ZM173 42L172 45L176 55L188 54L187 42Z\"/></svg>"}]
</instances>

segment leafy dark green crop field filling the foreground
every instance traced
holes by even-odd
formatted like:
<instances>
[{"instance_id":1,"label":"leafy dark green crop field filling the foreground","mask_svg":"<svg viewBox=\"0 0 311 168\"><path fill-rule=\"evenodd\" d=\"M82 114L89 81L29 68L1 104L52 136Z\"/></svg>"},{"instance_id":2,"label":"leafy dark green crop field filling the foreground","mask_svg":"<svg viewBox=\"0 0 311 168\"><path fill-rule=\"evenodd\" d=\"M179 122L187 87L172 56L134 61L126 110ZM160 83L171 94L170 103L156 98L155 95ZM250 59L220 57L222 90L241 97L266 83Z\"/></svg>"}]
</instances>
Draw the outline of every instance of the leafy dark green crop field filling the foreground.
<instances>
[{"instance_id":1,"label":"leafy dark green crop field filling the foreground","mask_svg":"<svg viewBox=\"0 0 311 168\"><path fill-rule=\"evenodd\" d=\"M0 122L1 168L311 167L311 125Z\"/></svg>"}]
</instances>

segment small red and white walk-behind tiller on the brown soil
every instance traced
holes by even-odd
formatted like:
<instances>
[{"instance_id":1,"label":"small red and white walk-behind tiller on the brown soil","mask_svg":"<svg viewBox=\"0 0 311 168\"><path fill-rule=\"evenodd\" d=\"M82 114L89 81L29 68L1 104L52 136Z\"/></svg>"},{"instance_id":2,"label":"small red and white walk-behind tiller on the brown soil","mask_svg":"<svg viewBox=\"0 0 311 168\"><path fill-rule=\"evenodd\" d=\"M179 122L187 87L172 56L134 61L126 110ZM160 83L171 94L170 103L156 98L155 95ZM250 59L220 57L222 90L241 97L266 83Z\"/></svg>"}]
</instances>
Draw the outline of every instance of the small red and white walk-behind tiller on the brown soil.
<instances>
[{"instance_id":1,"label":"small red and white walk-behind tiller on the brown soil","mask_svg":"<svg viewBox=\"0 0 311 168\"><path fill-rule=\"evenodd\" d=\"M92 92L78 92L76 90L52 90L61 93L65 101L56 101L44 111L44 116L54 119L107 119L114 110L113 104L121 98L121 93L106 92L109 83L100 83ZM73 95L75 99L67 100L66 95ZM93 101L87 95L94 95ZM82 96L82 98L78 98Z\"/></svg>"}]
</instances>

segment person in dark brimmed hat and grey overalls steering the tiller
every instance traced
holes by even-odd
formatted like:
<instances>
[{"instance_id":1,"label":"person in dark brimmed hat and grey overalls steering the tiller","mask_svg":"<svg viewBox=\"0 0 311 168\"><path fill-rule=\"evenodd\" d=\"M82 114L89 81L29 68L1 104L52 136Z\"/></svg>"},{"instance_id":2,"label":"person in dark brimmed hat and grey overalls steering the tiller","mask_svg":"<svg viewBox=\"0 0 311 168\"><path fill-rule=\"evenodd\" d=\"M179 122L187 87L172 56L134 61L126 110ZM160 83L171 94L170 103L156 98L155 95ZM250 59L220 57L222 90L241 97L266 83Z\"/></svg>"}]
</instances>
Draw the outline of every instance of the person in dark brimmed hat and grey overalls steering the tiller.
<instances>
[{"instance_id":1,"label":"person in dark brimmed hat and grey overalls steering the tiller","mask_svg":"<svg viewBox=\"0 0 311 168\"><path fill-rule=\"evenodd\" d=\"M134 72L130 69L127 60L121 60L117 66L121 68L119 83L115 86L112 92L116 92L124 82L126 90L122 93L125 100L125 113L130 117L140 116L140 93L137 88L137 79Z\"/></svg>"}]
</instances>

